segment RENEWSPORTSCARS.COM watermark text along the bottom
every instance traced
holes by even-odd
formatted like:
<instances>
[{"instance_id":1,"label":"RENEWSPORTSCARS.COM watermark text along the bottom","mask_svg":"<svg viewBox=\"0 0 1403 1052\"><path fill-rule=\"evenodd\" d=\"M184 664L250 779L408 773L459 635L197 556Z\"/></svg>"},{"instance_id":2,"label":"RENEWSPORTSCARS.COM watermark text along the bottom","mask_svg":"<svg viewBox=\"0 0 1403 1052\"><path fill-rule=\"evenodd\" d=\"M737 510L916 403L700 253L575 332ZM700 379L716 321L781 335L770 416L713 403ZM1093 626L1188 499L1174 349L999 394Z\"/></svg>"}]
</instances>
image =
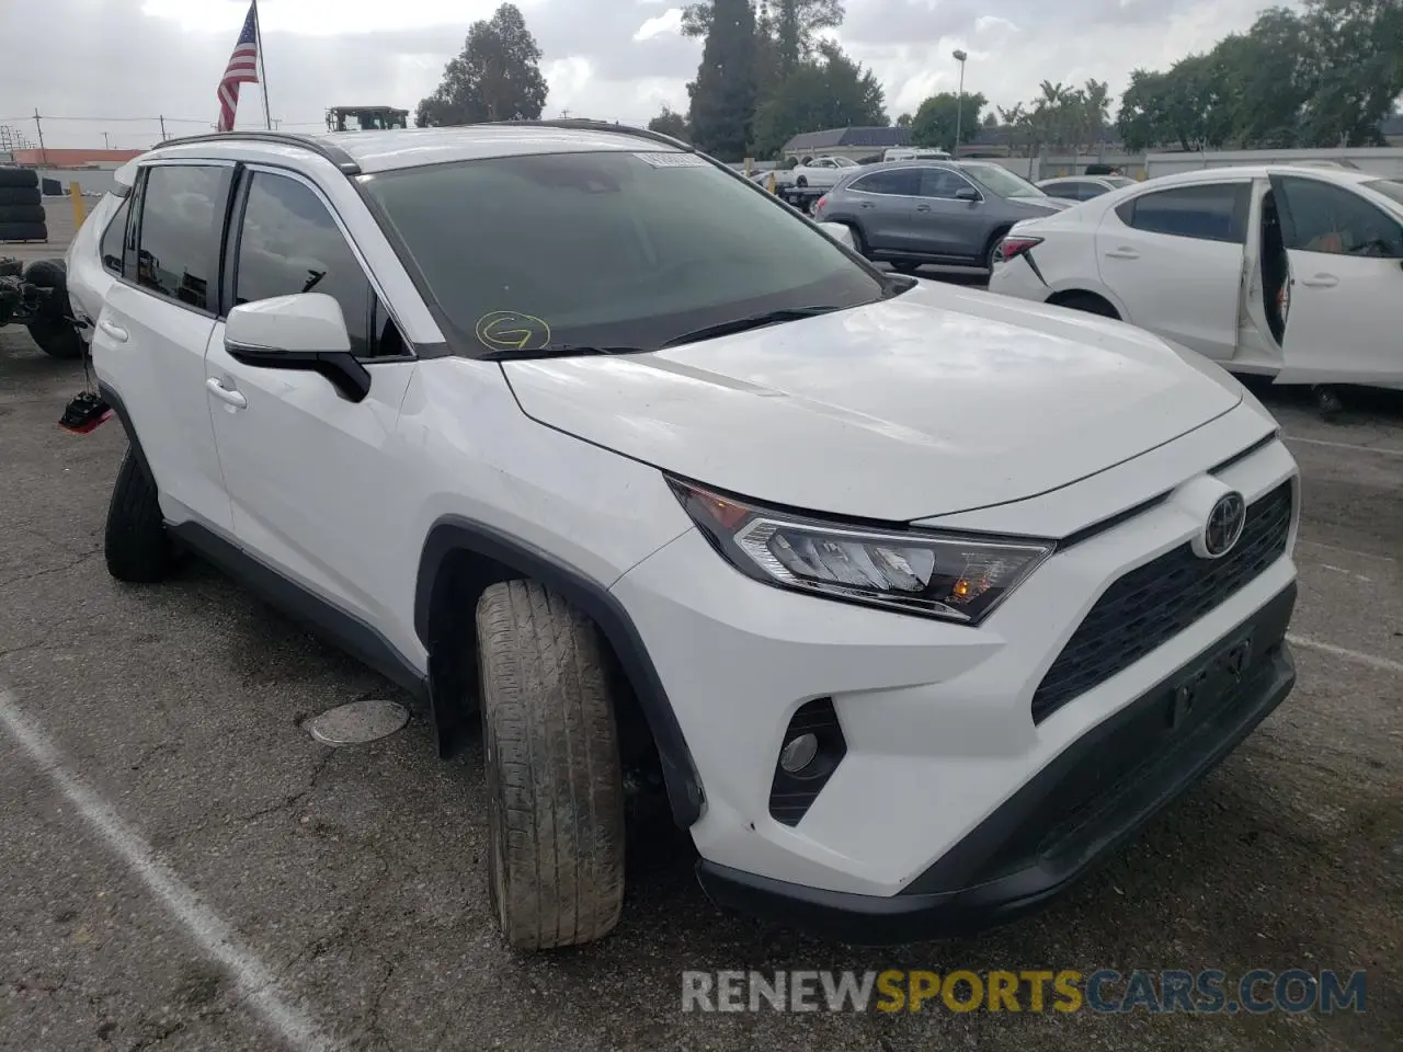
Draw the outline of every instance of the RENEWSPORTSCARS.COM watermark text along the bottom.
<instances>
[{"instance_id":1,"label":"RENEWSPORTSCARS.COM watermark text along the bottom","mask_svg":"<svg viewBox=\"0 0 1403 1052\"><path fill-rule=\"evenodd\" d=\"M1364 1011L1365 972L683 972L683 1011Z\"/></svg>"}]
</instances>

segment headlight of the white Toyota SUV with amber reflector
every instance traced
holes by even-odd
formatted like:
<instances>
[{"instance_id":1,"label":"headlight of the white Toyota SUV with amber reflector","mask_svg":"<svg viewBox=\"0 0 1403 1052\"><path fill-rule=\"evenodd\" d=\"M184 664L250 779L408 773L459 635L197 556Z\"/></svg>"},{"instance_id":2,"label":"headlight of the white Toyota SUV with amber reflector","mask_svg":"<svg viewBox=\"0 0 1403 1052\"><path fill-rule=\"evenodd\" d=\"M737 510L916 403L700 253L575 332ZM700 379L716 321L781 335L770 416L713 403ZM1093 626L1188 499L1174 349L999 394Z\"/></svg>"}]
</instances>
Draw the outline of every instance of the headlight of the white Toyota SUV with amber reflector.
<instances>
[{"instance_id":1,"label":"headlight of the white Toyota SUV with amber reflector","mask_svg":"<svg viewBox=\"0 0 1403 1052\"><path fill-rule=\"evenodd\" d=\"M716 550L756 581L962 624L988 617L1054 547L846 526L668 484Z\"/></svg>"}]
</instances>

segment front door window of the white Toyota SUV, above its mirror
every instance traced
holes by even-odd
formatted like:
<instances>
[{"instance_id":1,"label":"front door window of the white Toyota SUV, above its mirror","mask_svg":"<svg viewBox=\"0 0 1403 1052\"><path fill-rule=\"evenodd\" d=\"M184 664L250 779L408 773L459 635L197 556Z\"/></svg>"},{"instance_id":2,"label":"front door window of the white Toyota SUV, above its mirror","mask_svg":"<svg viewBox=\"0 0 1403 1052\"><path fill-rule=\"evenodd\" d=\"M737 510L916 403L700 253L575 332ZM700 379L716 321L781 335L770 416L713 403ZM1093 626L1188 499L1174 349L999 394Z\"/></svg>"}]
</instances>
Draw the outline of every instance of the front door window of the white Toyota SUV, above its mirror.
<instances>
[{"instance_id":1,"label":"front door window of the white Toyota SUV, above its mirror","mask_svg":"<svg viewBox=\"0 0 1403 1052\"><path fill-rule=\"evenodd\" d=\"M306 185L255 171L234 269L234 304L324 292L341 304L351 353L372 351L370 279L327 206Z\"/></svg>"}]
</instances>

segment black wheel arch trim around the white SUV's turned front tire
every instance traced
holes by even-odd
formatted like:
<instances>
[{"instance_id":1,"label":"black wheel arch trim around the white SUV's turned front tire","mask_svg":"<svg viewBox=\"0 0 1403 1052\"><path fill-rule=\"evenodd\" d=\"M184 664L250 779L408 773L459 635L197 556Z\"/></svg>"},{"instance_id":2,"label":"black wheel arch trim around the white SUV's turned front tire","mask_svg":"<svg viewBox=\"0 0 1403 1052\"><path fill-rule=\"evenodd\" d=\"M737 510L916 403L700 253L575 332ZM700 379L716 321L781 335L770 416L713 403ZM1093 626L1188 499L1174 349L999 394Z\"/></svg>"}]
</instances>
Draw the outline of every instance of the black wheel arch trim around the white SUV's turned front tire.
<instances>
[{"instance_id":1,"label":"black wheel arch trim around the white SUV's turned front tire","mask_svg":"<svg viewBox=\"0 0 1403 1052\"><path fill-rule=\"evenodd\" d=\"M414 593L414 631L429 654L429 703L439 752L449 755L462 741L471 713L450 699L473 689L462 676L477 672L476 647L470 669L455 668L449 661L452 649L445 642L455 627L462 628L462 617L453 614L462 614L467 603L476 609L477 596L488 585L515 578L530 578L558 592L599 628L657 746L672 818L679 828L690 828L702 816L702 781L662 679L629 612L607 588L540 548L457 515L443 516L429 529Z\"/></svg>"}]
</instances>

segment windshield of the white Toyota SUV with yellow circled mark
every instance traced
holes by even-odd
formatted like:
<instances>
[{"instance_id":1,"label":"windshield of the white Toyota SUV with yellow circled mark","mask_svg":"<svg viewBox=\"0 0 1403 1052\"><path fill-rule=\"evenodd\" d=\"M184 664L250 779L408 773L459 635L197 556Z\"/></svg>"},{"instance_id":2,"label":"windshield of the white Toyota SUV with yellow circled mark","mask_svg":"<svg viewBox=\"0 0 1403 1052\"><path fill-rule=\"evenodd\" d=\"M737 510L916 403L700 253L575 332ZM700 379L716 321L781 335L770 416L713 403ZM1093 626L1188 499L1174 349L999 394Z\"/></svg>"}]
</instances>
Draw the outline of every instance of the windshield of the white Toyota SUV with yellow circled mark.
<instances>
[{"instance_id":1,"label":"windshield of the white Toyota SUV with yellow circled mark","mask_svg":"<svg viewBox=\"0 0 1403 1052\"><path fill-rule=\"evenodd\" d=\"M887 292L788 206L692 153L492 157L362 185L470 353L655 349Z\"/></svg>"}]
</instances>

